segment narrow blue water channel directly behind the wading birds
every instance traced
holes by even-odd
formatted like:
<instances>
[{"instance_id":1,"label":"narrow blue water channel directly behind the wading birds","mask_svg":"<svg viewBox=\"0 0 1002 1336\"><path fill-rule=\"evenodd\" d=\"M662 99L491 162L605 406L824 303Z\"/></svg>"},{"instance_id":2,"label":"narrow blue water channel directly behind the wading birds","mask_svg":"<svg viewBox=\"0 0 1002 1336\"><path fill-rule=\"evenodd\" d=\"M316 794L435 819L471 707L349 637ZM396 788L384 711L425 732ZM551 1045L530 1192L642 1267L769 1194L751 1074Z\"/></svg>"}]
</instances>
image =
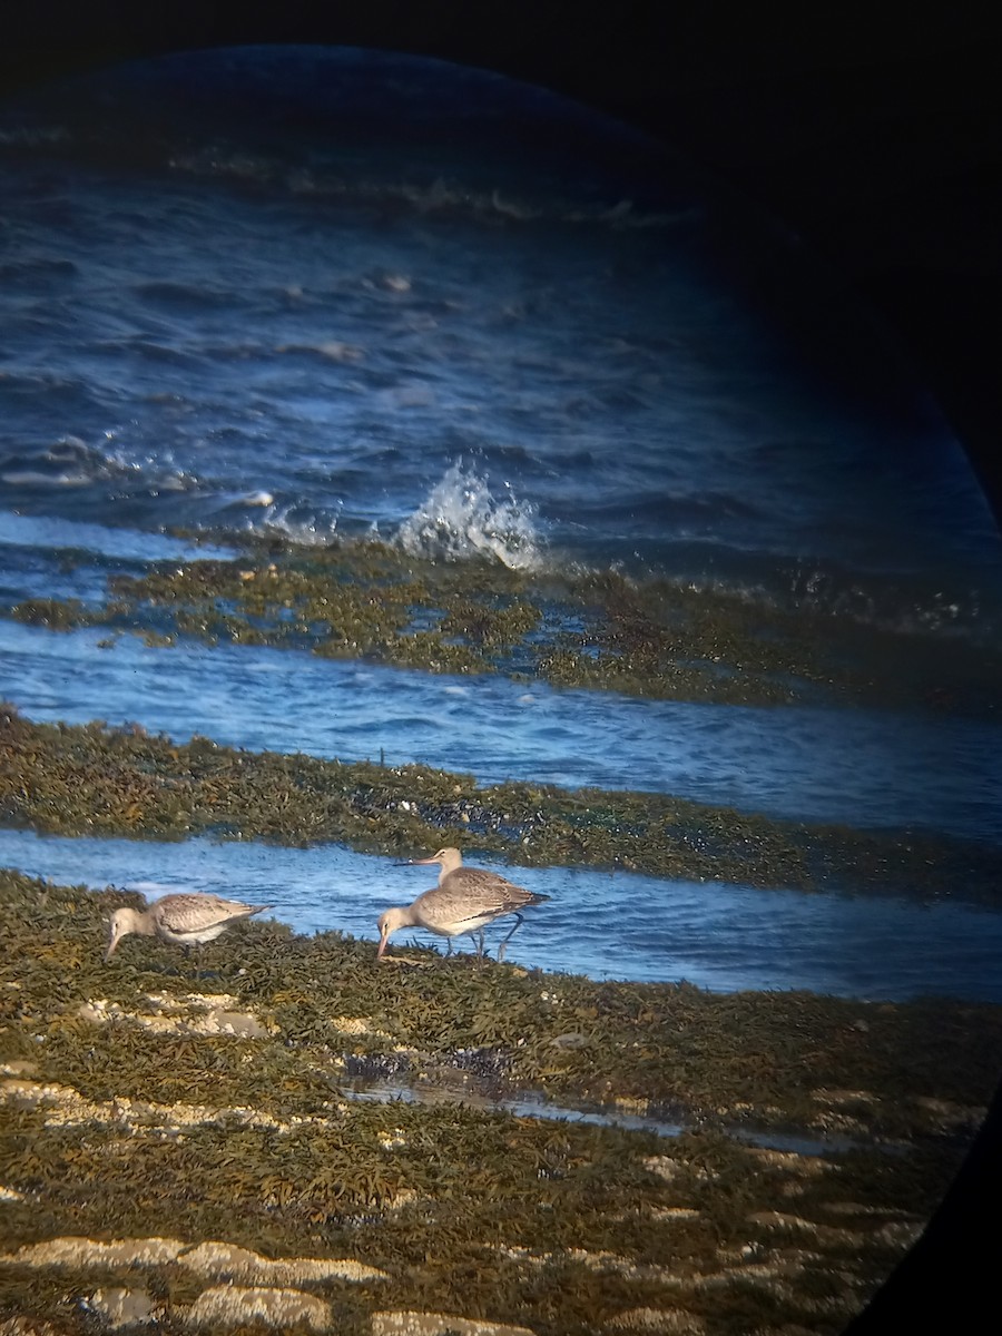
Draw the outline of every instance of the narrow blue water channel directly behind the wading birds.
<instances>
[{"instance_id":1,"label":"narrow blue water channel directly behind the wading birds","mask_svg":"<svg viewBox=\"0 0 1002 1336\"><path fill-rule=\"evenodd\" d=\"M552 896L525 915L508 943L505 961L516 965L596 979L687 979L721 993L814 989L860 999L939 994L1002 1002L1002 915L989 910L484 863ZM64 839L11 830L0 830L0 864L151 898L194 888L274 904L275 918L298 931L370 939L373 958L379 914L409 903L434 876L337 844ZM505 931L504 923L488 930L490 954ZM414 929L394 937L391 947L411 942L445 946ZM103 945L94 943L95 954ZM473 950L473 939L457 947Z\"/></svg>"}]
</instances>

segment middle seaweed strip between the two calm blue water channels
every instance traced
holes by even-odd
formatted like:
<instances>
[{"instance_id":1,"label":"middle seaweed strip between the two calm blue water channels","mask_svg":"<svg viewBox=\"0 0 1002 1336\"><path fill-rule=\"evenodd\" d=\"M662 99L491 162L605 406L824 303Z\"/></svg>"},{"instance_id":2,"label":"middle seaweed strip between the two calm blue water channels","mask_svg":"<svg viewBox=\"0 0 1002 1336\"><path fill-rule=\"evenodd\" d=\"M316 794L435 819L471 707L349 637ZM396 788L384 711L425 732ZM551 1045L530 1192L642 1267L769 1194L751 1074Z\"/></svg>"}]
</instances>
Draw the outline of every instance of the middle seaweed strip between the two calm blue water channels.
<instances>
[{"instance_id":1,"label":"middle seaweed strip between the two calm blue water channels","mask_svg":"<svg viewBox=\"0 0 1002 1336\"><path fill-rule=\"evenodd\" d=\"M429 766L174 743L138 724L40 724L0 704L0 823L51 835L343 843L406 855L454 844L566 866L751 887L999 906L1002 851L916 830L859 831L667 794L565 790Z\"/></svg>"}]
</instances>

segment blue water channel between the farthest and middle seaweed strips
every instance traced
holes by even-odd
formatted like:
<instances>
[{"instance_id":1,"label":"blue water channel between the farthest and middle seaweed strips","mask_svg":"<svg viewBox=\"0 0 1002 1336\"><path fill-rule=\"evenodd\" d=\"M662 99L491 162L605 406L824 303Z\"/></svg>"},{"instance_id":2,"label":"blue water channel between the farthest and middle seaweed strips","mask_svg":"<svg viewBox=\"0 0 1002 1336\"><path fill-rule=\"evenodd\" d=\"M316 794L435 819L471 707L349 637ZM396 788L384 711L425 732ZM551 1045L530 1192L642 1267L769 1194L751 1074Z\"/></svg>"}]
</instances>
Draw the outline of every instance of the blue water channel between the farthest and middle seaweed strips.
<instances>
[{"instance_id":1,"label":"blue water channel between the farthest and middle seaweed strips","mask_svg":"<svg viewBox=\"0 0 1002 1336\"><path fill-rule=\"evenodd\" d=\"M36 720L139 723L251 751L480 783L635 788L794 820L1002 838L1002 728L949 715L649 701L244 645L156 648L11 624L0 681ZM123 696L123 681L128 695ZM860 814L864 812L864 822Z\"/></svg>"}]
</instances>

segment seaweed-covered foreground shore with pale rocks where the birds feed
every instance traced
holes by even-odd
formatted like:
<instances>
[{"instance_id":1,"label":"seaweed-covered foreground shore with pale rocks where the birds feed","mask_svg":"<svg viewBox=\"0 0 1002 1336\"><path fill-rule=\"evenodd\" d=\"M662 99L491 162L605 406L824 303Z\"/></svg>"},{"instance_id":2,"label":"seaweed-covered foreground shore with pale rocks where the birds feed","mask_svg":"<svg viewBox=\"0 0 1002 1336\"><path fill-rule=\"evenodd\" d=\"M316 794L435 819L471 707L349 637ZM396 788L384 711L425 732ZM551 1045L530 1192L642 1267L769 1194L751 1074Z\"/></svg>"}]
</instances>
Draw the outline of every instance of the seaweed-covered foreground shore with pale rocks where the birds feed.
<instances>
[{"instance_id":1,"label":"seaweed-covered foreground shore with pale rocks where the birds feed","mask_svg":"<svg viewBox=\"0 0 1002 1336\"><path fill-rule=\"evenodd\" d=\"M990 1005L600 983L395 945L377 963L374 942L258 921L199 963L130 938L106 966L103 921L135 895L7 871L0 899L0 1312L41 1331L131 1313L379 1336L417 1312L415 1331L569 1336L675 1312L820 1336L921 1232L1002 1061ZM359 1071L449 1073L460 1098L357 1100ZM691 1121L667 1138L477 1089ZM741 1122L834 1142L756 1145Z\"/></svg>"}]
</instances>

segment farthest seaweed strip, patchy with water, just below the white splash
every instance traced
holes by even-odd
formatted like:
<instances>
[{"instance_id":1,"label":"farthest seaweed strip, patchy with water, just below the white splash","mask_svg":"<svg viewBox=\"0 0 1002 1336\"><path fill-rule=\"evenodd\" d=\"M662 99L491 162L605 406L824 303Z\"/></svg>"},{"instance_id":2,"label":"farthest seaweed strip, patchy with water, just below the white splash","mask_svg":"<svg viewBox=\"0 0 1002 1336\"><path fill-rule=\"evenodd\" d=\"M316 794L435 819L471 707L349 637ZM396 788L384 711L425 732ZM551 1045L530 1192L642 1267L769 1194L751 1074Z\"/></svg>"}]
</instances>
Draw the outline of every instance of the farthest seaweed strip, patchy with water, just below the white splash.
<instances>
[{"instance_id":1,"label":"farthest seaweed strip, patchy with water, just below the white splash","mask_svg":"<svg viewBox=\"0 0 1002 1336\"><path fill-rule=\"evenodd\" d=\"M107 577L103 604L0 609L51 629L107 625L150 644L310 649L429 672L494 672L664 700L918 705L991 716L998 651L902 632L791 595L436 562L377 541L322 548L236 540L230 561L148 562ZM152 637L152 639L151 639Z\"/></svg>"}]
</instances>

